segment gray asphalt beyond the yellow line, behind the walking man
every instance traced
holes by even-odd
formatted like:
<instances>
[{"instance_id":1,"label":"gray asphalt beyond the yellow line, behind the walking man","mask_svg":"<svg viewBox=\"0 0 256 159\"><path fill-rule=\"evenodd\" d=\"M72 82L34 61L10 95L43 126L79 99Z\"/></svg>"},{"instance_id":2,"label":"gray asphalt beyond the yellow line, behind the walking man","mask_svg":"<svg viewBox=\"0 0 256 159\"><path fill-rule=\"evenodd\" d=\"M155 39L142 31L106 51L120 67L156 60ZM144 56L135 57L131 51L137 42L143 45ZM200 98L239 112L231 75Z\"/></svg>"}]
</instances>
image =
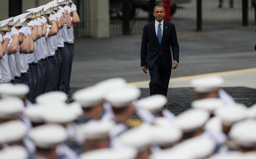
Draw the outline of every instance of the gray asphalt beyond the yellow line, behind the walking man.
<instances>
[{"instance_id":1,"label":"gray asphalt beyond the yellow line, behind the walking man","mask_svg":"<svg viewBox=\"0 0 256 159\"><path fill-rule=\"evenodd\" d=\"M177 35L180 60L171 78L256 67L254 28ZM75 39L71 87L86 87L112 77L127 82L148 81L149 74L140 67L140 44L141 35Z\"/></svg>"}]
</instances>

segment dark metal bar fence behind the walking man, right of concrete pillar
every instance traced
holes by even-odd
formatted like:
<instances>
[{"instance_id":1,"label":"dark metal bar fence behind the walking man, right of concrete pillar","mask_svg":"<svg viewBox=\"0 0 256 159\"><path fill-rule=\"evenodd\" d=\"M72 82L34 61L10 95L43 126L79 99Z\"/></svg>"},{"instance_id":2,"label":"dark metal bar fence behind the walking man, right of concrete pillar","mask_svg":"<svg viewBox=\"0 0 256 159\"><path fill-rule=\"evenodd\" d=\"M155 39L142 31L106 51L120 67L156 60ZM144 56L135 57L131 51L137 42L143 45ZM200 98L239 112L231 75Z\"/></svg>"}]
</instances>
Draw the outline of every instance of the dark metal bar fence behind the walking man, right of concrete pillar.
<instances>
[{"instance_id":1,"label":"dark metal bar fence behind the walking man, right of concrete pillar","mask_svg":"<svg viewBox=\"0 0 256 159\"><path fill-rule=\"evenodd\" d=\"M136 0L130 0L132 2ZM142 0L141 0L142 1ZM243 25L242 3L248 1L248 25L255 25L255 0L201 0L202 14L202 29L223 29L232 28ZM115 0L122 4L122 0ZM175 1L173 0L175 3ZM178 2L178 0L176 0ZM230 4L230 2L232 2ZM161 1L156 1L156 4L161 4ZM220 5L221 4L221 5ZM110 8L111 7L110 4ZM196 31L197 29L197 0L190 0L187 3L176 3L176 12L171 18L176 26L177 31ZM136 5L133 5L136 7ZM119 5L120 8L120 5ZM119 17L115 14L110 14L110 34L111 36L123 34L122 9L120 9ZM131 10L131 8L129 8ZM147 8L134 8L134 15L130 16L129 34L142 34L143 26L149 22L149 16L153 16Z\"/></svg>"}]
</instances>

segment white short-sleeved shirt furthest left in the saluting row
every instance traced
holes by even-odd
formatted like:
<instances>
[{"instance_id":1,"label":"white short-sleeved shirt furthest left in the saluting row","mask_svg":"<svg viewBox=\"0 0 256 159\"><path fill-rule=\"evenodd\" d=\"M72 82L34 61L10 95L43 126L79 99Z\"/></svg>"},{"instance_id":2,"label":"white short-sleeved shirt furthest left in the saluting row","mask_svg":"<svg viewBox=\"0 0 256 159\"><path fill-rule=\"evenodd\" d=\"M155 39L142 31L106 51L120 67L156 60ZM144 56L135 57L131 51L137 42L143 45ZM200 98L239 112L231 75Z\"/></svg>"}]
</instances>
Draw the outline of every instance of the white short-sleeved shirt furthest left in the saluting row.
<instances>
[{"instance_id":1,"label":"white short-sleeved shirt furthest left in the saluting row","mask_svg":"<svg viewBox=\"0 0 256 159\"><path fill-rule=\"evenodd\" d=\"M3 82L10 82L12 80L12 76L11 76L10 68L8 65L7 50L3 58L0 60L0 67L1 67Z\"/></svg>"}]
</instances>

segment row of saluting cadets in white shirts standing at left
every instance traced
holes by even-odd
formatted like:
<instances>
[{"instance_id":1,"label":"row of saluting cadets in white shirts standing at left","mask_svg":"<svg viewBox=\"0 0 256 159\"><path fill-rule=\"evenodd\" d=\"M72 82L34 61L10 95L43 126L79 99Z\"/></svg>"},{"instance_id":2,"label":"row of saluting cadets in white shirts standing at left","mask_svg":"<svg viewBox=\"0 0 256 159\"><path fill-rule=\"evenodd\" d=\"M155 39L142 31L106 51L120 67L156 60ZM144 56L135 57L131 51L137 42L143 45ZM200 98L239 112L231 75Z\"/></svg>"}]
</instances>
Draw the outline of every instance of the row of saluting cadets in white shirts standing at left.
<instances>
[{"instance_id":1,"label":"row of saluting cadets in white shirts standing at left","mask_svg":"<svg viewBox=\"0 0 256 159\"><path fill-rule=\"evenodd\" d=\"M71 97L73 25L80 22L76 10L71 0L54 0L1 21L0 83L27 84L32 103L55 90Z\"/></svg>"}]
</instances>

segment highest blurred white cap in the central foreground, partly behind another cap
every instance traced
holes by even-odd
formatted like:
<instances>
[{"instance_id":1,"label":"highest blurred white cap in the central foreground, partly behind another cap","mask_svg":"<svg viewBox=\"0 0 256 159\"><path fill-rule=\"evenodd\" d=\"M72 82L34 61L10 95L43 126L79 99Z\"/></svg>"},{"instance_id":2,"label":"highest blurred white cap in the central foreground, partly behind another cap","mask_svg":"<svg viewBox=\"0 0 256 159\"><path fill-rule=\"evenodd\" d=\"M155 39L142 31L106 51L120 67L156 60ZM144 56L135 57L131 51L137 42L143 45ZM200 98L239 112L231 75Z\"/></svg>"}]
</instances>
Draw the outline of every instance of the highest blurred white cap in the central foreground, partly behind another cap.
<instances>
[{"instance_id":1,"label":"highest blurred white cap in the central foreground, partly behind another cap","mask_svg":"<svg viewBox=\"0 0 256 159\"><path fill-rule=\"evenodd\" d=\"M123 78L110 78L97 83L95 86L104 89L105 93L111 92L126 85L126 80Z\"/></svg>"}]
</instances>

